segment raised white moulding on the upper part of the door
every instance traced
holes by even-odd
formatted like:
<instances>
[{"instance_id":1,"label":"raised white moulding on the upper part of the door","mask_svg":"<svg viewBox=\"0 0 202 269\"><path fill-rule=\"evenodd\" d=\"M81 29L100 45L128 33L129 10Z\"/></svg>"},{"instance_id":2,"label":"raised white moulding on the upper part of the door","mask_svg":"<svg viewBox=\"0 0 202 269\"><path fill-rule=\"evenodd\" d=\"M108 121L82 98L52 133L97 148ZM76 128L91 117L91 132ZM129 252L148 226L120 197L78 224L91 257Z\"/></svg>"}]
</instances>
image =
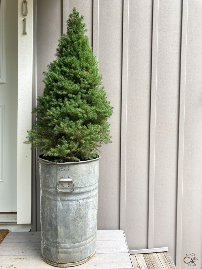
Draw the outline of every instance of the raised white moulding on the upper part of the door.
<instances>
[{"instance_id":1,"label":"raised white moulding on the upper part of the door","mask_svg":"<svg viewBox=\"0 0 202 269\"><path fill-rule=\"evenodd\" d=\"M6 62L5 62L5 7L6 0L1 0L0 7L0 83L6 82Z\"/></svg>"}]
</instances>

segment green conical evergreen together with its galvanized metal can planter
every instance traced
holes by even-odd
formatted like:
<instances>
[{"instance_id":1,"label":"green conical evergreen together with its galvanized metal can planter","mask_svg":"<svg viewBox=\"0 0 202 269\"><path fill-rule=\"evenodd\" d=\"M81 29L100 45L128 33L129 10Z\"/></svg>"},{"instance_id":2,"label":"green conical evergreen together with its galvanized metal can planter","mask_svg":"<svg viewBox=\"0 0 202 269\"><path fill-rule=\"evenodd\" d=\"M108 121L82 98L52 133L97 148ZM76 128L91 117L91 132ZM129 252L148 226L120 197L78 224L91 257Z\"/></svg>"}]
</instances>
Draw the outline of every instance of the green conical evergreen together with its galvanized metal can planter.
<instances>
[{"instance_id":1,"label":"green conical evergreen together with its galvanized metal can planter","mask_svg":"<svg viewBox=\"0 0 202 269\"><path fill-rule=\"evenodd\" d=\"M59 39L56 60L44 72L37 121L26 144L38 148L41 255L55 266L74 266L96 251L98 147L111 143L113 108L101 86L98 62L76 8Z\"/></svg>"}]
</instances>

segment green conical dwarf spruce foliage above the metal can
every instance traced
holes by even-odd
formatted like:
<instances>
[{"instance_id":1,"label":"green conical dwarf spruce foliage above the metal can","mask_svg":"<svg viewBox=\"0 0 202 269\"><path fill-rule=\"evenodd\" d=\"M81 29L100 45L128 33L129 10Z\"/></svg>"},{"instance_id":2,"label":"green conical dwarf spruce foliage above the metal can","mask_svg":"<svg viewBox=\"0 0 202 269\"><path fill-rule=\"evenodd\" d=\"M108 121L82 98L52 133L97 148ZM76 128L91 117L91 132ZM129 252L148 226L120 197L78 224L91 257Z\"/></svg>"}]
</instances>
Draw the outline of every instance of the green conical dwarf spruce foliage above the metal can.
<instances>
[{"instance_id":1,"label":"green conical dwarf spruce foliage above the metal can","mask_svg":"<svg viewBox=\"0 0 202 269\"><path fill-rule=\"evenodd\" d=\"M98 147L111 143L113 107L101 86L98 62L85 35L83 16L76 8L59 39L56 60L44 72L44 93L37 98L37 121L26 144L38 148L54 162L97 158Z\"/></svg>"}]
</instances>

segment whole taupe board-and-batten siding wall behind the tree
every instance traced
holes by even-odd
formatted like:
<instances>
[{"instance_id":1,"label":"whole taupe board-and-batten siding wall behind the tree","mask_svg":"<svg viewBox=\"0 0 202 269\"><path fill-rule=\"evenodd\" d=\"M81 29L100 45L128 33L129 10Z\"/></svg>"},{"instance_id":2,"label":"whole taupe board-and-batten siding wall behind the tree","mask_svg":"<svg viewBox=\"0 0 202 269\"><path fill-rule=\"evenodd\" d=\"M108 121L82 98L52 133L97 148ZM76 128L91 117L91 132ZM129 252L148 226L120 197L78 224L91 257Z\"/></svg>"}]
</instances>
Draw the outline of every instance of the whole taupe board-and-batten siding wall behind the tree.
<instances>
[{"instance_id":1,"label":"whole taupe board-and-batten siding wall behind the tree","mask_svg":"<svg viewBox=\"0 0 202 269\"><path fill-rule=\"evenodd\" d=\"M201 269L202 2L38 1L38 94L74 5L114 106L98 229L124 228L130 250L169 247L177 268L196 253Z\"/></svg>"}]
</instances>

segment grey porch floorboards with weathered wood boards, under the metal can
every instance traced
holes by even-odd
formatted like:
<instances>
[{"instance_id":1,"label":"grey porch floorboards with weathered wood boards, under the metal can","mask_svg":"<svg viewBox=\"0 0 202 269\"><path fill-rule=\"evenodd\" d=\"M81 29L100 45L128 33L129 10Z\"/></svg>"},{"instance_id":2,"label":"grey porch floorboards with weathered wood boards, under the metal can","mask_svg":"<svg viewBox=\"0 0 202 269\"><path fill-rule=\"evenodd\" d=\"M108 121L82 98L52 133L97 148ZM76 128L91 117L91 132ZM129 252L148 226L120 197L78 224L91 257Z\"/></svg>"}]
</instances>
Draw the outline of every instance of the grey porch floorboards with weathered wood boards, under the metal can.
<instances>
[{"instance_id":1,"label":"grey porch floorboards with weathered wood boards, under the metal can","mask_svg":"<svg viewBox=\"0 0 202 269\"><path fill-rule=\"evenodd\" d=\"M0 268L46 269L40 256L40 232L9 232L0 244ZM131 262L132 260L132 262ZM168 252L130 255L123 230L97 231L94 257L80 269L176 269Z\"/></svg>"}]
</instances>

